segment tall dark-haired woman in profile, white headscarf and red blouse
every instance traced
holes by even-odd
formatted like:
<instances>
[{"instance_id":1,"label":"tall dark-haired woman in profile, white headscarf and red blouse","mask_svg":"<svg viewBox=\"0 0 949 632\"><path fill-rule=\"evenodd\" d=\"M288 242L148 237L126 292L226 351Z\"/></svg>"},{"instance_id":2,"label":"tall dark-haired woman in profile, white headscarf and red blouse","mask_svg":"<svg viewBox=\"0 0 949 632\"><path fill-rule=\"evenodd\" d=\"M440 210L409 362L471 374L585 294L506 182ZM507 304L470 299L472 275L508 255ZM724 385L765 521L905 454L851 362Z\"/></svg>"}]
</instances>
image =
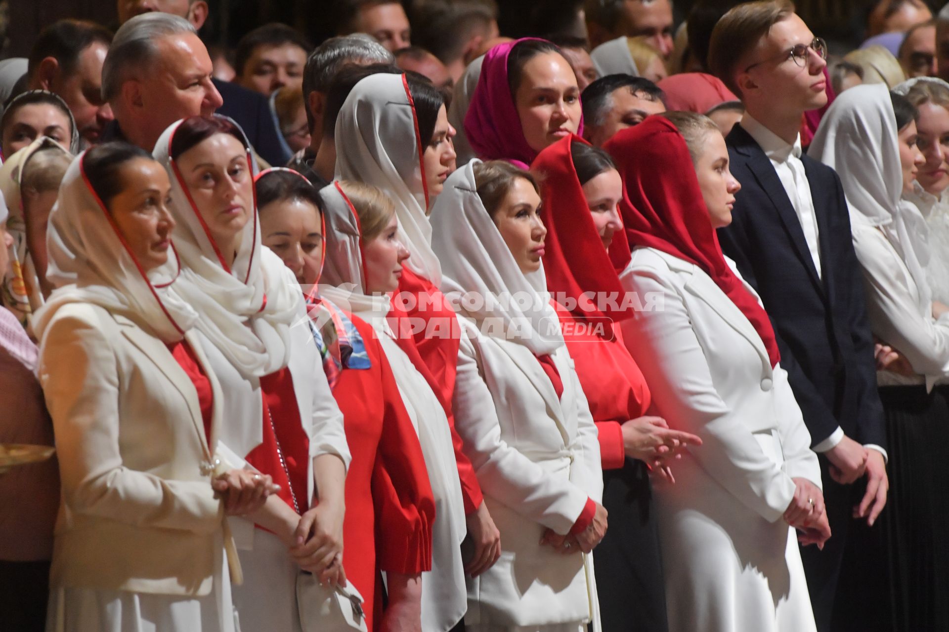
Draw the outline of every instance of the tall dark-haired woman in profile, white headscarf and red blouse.
<instances>
[{"instance_id":1,"label":"tall dark-haired woman in profile, white headscarf and red blouse","mask_svg":"<svg viewBox=\"0 0 949 632\"><path fill-rule=\"evenodd\" d=\"M408 75L377 74L353 88L336 121L336 137L349 139L337 149L338 179L364 182L383 190L399 219L400 240L411 257L393 300L397 331L414 337L422 373L445 408L453 433L458 478L468 533L474 544L465 571L478 574L500 553L494 526L471 461L454 429L452 399L459 336L457 316L441 291L441 266L432 250L432 212L445 179L456 168L455 128L441 93L428 81Z\"/></svg>"}]
</instances>

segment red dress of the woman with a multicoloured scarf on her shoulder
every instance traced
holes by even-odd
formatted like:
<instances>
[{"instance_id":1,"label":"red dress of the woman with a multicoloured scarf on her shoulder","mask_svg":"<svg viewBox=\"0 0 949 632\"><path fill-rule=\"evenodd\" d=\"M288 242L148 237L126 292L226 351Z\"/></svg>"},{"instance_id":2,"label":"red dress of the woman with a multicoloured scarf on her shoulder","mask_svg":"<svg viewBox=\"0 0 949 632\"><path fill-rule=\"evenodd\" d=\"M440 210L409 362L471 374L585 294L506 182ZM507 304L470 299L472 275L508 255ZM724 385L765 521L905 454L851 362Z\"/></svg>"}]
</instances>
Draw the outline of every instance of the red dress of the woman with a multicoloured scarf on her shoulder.
<instances>
[{"instance_id":1,"label":"red dress of the woman with a multicoloured scarf on her shoulder","mask_svg":"<svg viewBox=\"0 0 949 632\"><path fill-rule=\"evenodd\" d=\"M369 356L369 369L344 369L333 395L343 411L352 454L343 521L346 577L363 595L366 626L378 630L380 571L432 569L435 497L412 419L372 327L347 314Z\"/></svg>"}]
</instances>

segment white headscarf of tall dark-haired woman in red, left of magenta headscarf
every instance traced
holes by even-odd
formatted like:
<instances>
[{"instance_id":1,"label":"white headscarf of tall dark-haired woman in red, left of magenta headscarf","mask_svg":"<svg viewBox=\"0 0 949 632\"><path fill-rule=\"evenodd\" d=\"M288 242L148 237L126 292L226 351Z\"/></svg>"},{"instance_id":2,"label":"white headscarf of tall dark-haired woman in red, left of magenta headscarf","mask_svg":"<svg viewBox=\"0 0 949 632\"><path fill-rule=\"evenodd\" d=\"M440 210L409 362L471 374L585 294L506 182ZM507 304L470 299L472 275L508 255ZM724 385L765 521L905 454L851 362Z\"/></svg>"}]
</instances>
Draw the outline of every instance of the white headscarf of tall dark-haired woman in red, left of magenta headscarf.
<instances>
[{"instance_id":1,"label":"white headscarf of tall dark-haired woman in red, left of magenta headscarf","mask_svg":"<svg viewBox=\"0 0 949 632\"><path fill-rule=\"evenodd\" d=\"M432 250L428 190L422 163L428 139L418 135L419 120L405 75L380 73L356 84L336 120L336 179L354 180L385 192L396 206L406 266L420 277L441 282Z\"/></svg>"}]
</instances>

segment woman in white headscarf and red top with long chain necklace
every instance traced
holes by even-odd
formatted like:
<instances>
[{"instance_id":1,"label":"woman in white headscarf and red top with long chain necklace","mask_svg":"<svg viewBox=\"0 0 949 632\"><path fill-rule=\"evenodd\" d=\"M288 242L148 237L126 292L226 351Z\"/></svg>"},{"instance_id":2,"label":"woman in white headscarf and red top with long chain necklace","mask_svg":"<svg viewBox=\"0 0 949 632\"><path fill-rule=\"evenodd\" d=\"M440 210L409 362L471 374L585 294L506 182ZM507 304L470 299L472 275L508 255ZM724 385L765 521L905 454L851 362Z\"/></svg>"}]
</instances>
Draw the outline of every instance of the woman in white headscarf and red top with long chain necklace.
<instances>
[{"instance_id":1,"label":"woman in white headscarf and red top with long chain necklace","mask_svg":"<svg viewBox=\"0 0 949 632\"><path fill-rule=\"evenodd\" d=\"M225 394L222 441L281 485L278 514L235 521L246 582L234 603L251 630L300 630L299 569L345 584L343 415L300 285L261 244L253 159L240 128L225 117L185 118L158 138L154 154L172 185L182 267L175 292L199 315L195 329Z\"/></svg>"}]
</instances>

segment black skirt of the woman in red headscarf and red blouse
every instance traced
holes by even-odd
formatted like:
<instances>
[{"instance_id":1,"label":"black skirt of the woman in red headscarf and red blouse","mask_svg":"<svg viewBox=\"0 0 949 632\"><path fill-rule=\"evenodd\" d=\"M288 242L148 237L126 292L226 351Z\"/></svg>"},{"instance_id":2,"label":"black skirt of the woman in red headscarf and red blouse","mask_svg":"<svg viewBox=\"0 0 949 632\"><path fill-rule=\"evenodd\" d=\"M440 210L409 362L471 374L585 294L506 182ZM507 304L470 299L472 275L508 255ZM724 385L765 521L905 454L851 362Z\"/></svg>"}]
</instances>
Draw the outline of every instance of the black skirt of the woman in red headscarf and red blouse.
<instances>
[{"instance_id":1,"label":"black skirt of the woman in red headscarf and red blouse","mask_svg":"<svg viewBox=\"0 0 949 632\"><path fill-rule=\"evenodd\" d=\"M659 532L648 469L604 470L606 535L593 550L604 632L668 632Z\"/></svg>"}]
</instances>

